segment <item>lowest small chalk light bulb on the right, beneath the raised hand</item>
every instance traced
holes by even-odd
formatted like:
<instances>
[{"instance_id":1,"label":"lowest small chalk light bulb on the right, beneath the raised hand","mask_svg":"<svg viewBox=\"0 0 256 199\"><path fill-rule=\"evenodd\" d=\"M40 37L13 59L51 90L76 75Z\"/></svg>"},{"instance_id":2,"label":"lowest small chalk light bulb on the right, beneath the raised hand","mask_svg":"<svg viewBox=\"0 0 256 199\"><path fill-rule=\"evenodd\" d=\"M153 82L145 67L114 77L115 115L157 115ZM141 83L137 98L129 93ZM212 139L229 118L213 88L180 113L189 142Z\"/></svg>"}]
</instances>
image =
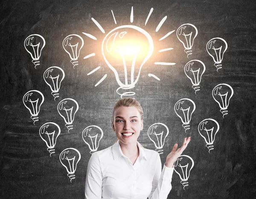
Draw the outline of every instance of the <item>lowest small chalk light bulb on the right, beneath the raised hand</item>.
<instances>
[{"instance_id":1,"label":"lowest small chalk light bulb on the right, beneath the raised hand","mask_svg":"<svg viewBox=\"0 0 256 199\"><path fill-rule=\"evenodd\" d=\"M189 186L189 174L193 167L193 159L186 155L179 156L174 163L174 170L180 176L180 183L183 185L184 190L186 186Z\"/></svg>"}]
</instances>

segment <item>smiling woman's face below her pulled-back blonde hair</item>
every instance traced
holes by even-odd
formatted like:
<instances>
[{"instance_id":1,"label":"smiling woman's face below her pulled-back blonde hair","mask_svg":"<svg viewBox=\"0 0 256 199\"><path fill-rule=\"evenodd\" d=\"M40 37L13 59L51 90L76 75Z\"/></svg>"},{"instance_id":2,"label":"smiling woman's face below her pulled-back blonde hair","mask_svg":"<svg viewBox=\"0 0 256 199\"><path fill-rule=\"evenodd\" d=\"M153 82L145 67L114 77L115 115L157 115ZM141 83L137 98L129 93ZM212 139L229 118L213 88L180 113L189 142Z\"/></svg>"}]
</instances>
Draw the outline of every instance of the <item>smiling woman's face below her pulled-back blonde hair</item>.
<instances>
[{"instance_id":1,"label":"smiling woman's face below her pulled-back blonde hair","mask_svg":"<svg viewBox=\"0 0 256 199\"><path fill-rule=\"evenodd\" d=\"M136 107L118 107L113 115L113 130L123 144L137 143L143 120Z\"/></svg>"}]
</instances>

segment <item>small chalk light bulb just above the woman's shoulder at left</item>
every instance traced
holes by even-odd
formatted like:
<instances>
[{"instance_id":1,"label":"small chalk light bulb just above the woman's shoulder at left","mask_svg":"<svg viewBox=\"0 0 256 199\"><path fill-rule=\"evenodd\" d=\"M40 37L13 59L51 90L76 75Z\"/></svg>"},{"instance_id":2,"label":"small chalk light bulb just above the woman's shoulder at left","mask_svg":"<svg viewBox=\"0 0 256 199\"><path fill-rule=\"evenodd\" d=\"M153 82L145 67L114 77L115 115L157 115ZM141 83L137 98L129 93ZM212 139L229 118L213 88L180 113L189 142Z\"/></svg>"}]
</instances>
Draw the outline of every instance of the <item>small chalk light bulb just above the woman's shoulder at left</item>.
<instances>
[{"instance_id":1,"label":"small chalk light bulb just above the woman's shoulder at left","mask_svg":"<svg viewBox=\"0 0 256 199\"><path fill-rule=\"evenodd\" d=\"M86 127L82 133L82 138L85 144L87 144L88 147L90 148L91 154L98 150L99 141L102 139L102 137L103 137L103 131L100 127L96 125L91 125L89 127Z\"/></svg>"}]
</instances>

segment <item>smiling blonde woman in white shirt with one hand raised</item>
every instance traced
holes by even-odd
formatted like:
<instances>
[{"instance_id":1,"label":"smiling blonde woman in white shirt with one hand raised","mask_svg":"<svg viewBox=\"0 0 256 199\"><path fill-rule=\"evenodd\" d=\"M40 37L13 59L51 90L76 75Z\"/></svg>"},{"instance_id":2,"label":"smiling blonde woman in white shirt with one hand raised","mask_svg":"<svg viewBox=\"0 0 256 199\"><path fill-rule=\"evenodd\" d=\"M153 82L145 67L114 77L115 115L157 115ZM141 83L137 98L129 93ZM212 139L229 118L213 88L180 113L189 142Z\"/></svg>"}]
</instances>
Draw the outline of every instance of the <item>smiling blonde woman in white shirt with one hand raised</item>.
<instances>
[{"instance_id":1,"label":"smiling blonde woman in white shirt with one hand raised","mask_svg":"<svg viewBox=\"0 0 256 199\"><path fill-rule=\"evenodd\" d=\"M91 156L85 199L166 199L172 189L173 164L191 138L184 138L179 149L174 145L162 170L159 154L137 141L143 130L143 109L136 99L119 99L112 123L117 141Z\"/></svg>"}]
</instances>

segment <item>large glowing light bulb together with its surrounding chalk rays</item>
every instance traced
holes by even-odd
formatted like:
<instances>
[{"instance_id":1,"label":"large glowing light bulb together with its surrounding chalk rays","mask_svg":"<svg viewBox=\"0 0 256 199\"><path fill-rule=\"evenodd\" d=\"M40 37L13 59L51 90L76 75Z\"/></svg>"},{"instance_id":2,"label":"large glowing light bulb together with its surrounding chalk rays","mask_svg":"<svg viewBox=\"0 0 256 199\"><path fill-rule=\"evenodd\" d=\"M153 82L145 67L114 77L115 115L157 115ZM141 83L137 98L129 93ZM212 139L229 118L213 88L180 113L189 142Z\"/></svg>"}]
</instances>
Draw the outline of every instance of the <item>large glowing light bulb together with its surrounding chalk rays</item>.
<instances>
[{"instance_id":1,"label":"large glowing light bulb together with its surrounding chalk rays","mask_svg":"<svg viewBox=\"0 0 256 199\"><path fill-rule=\"evenodd\" d=\"M149 17L153 12L153 8L151 8L148 17L145 21L145 26L148 22ZM111 10L113 15L113 20L116 23L116 19L113 11ZM165 22L167 16L163 17L160 23L157 25L155 32L158 32ZM102 33L105 34L105 30L102 26L97 22L93 17L91 18L93 23L100 29ZM134 21L134 12L133 6L131 7L131 16L130 22ZM175 30L168 32L166 35L161 37L159 40L163 40L169 35L171 35ZM83 32L84 35L90 37L93 40L97 40L97 38L93 35ZM172 50L173 48L161 49L159 52L166 52ZM116 92L122 98L123 96L135 95L135 92L131 91L137 81L140 78L141 72L143 72L143 68L145 64L148 63L148 60L151 58L151 55L154 51L154 43L152 37L146 32L144 29L134 26L134 25L122 25L117 26L108 32L101 43L101 52L102 56L105 60L105 63L108 67L113 71L116 82L119 85L119 88L116 89ZM84 57L84 59L95 56L95 53L91 53ZM175 65L172 62L155 62L155 65ZM101 66L98 66L96 69L93 69L87 75L91 75L93 72L96 72L100 69ZM98 81L95 85L98 86L105 78L104 77ZM148 77L153 77L160 81L156 75L148 73Z\"/></svg>"}]
</instances>

